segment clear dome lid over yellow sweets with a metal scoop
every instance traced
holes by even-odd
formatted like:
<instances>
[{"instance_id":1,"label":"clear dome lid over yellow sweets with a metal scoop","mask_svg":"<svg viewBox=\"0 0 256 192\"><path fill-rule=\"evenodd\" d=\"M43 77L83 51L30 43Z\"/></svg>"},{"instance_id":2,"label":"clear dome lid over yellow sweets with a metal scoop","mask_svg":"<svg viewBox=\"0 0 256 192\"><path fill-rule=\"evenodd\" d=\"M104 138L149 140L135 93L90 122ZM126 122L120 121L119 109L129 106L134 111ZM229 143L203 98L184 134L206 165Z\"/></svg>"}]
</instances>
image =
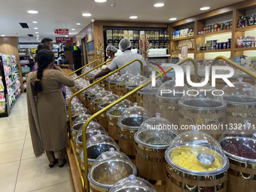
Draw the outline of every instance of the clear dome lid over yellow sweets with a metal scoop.
<instances>
[{"instance_id":1,"label":"clear dome lid over yellow sweets with a metal scoop","mask_svg":"<svg viewBox=\"0 0 256 192\"><path fill-rule=\"evenodd\" d=\"M221 145L209 134L198 130L176 136L166 150L165 158L170 166L190 175L218 175L229 167Z\"/></svg>"}]
</instances>

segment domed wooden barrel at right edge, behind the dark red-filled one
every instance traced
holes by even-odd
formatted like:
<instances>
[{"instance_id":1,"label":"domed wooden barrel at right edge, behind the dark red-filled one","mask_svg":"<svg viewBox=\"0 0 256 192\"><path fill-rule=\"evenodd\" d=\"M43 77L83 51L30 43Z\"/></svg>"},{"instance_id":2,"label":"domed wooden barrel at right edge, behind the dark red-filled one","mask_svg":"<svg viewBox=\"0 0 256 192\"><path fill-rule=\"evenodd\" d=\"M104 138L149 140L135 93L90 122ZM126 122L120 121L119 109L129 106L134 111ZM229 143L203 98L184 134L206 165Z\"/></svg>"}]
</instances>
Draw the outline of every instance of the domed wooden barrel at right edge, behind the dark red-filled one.
<instances>
[{"instance_id":1,"label":"domed wooden barrel at right edge, behind the dark red-filled one","mask_svg":"<svg viewBox=\"0 0 256 192\"><path fill-rule=\"evenodd\" d=\"M251 124L256 124L256 87L242 82L233 82L235 87L228 85L223 87L223 99L227 103L226 124L233 125L244 123L244 120L251 120Z\"/></svg>"}]
</instances>

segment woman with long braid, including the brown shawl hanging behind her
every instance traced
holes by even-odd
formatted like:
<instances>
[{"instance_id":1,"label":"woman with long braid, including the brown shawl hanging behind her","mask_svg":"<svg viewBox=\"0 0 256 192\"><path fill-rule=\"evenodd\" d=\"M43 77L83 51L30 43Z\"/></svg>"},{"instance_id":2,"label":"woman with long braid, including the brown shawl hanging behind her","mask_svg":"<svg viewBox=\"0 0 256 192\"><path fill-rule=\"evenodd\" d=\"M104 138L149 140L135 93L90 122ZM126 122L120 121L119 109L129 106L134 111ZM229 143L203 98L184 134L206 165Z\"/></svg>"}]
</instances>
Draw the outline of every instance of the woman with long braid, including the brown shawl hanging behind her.
<instances>
[{"instance_id":1,"label":"woman with long braid, including the brown shawl hanging behind her","mask_svg":"<svg viewBox=\"0 0 256 192\"><path fill-rule=\"evenodd\" d=\"M37 53L38 71L29 73L27 81L27 99L29 128L35 156L46 151L49 166L59 162L66 164L66 146L68 145L66 128L66 107L62 96L62 84L73 87L75 81L65 75L58 66L53 67L54 54L50 50ZM37 103L34 96L37 96ZM54 152L59 158L55 159Z\"/></svg>"}]
</instances>

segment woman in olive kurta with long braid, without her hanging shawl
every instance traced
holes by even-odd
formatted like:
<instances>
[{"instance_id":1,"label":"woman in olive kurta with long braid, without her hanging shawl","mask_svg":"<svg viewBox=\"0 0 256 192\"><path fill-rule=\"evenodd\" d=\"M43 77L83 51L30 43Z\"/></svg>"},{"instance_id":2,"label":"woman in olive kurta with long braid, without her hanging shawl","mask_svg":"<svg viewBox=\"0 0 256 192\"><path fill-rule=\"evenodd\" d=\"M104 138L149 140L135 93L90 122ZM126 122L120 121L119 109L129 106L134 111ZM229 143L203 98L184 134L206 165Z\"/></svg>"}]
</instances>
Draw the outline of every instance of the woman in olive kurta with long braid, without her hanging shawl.
<instances>
[{"instance_id":1,"label":"woman in olive kurta with long braid, without her hanging shawl","mask_svg":"<svg viewBox=\"0 0 256 192\"><path fill-rule=\"evenodd\" d=\"M54 152L59 154L59 166L66 164L66 146L68 145L66 128L66 107L62 96L62 84L73 87L75 81L65 75L59 67L53 66L53 52L40 50L38 71L31 76L32 87L37 93L37 112L43 148L46 151L49 166L57 160Z\"/></svg>"}]
</instances>

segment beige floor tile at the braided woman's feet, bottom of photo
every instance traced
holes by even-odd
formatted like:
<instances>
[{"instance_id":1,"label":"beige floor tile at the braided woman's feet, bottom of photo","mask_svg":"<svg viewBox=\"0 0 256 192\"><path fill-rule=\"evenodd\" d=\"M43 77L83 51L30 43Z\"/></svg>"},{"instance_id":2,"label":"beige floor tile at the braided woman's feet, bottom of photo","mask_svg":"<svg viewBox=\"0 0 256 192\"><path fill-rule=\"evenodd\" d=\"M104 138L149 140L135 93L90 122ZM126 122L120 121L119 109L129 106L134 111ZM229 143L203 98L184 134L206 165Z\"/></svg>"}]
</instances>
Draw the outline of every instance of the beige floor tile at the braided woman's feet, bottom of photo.
<instances>
[{"instance_id":1,"label":"beige floor tile at the braided woman's feet, bottom of photo","mask_svg":"<svg viewBox=\"0 0 256 192\"><path fill-rule=\"evenodd\" d=\"M69 169L66 166L50 169L47 157L21 160L15 192L27 192L70 181ZM29 182L29 183L28 183Z\"/></svg>"}]
</instances>

